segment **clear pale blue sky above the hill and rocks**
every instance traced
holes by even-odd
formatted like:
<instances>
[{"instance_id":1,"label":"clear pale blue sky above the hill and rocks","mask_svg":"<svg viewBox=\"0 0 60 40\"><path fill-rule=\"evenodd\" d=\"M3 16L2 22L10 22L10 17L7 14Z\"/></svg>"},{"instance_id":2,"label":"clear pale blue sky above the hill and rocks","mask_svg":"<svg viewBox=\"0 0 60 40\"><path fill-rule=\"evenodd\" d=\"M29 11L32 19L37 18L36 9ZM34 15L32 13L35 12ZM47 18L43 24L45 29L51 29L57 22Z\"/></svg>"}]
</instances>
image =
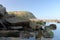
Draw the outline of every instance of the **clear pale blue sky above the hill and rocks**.
<instances>
[{"instance_id":1,"label":"clear pale blue sky above the hill and rocks","mask_svg":"<svg viewBox=\"0 0 60 40\"><path fill-rule=\"evenodd\" d=\"M29 11L38 19L60 19L60 0L0 0L7 11Z\"/></svg>"}]
</instances>

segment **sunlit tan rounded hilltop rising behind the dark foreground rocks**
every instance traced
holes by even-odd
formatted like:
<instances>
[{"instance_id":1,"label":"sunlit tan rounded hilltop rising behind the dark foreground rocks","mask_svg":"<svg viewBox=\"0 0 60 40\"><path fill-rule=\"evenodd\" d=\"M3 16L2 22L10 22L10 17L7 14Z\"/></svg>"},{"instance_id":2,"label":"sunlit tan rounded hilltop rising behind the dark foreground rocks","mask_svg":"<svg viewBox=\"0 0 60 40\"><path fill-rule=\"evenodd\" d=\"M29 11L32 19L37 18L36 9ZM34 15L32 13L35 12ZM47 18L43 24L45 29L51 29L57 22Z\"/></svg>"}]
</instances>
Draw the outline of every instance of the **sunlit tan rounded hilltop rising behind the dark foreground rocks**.
<instances>
[{"instance_id":1,"label":"sunlit tan rounded hilltop rising behind the dark foreground rocks","mask_svg":"<svg viewBox=\"0 0 60 40\"><path fill-rule=\"evenodd\" d=\"M20 17L21 19L36 18L31 12L26 12L26 11L8 12L8 14L15 15L16 17Z\"/></svg>"}]
</instances>

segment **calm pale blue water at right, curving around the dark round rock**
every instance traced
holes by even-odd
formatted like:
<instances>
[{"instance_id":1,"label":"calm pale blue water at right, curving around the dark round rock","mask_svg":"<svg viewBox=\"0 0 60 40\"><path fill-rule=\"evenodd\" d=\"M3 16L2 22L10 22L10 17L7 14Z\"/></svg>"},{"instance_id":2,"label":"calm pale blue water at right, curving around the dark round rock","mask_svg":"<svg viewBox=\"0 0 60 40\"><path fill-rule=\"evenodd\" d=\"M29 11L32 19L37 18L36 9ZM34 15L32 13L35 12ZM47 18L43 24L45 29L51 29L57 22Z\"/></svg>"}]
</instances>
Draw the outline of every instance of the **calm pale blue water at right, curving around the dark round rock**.
<instances>
[{"instance_id":1,"label":"calm pale blue water at right, curving around the dark round rock","mask_svg":"<svg viewBox=\"0 0 60 40\"><path fill-rule=\"evenodd\" d=\"M51 40L60 40L60 23L47 22L46 25L50 25L50 24L56 24L57 25L57 29L56 30L52 30L53 33L54 33L54 37Z\"/></svg>"}]
</instances>

